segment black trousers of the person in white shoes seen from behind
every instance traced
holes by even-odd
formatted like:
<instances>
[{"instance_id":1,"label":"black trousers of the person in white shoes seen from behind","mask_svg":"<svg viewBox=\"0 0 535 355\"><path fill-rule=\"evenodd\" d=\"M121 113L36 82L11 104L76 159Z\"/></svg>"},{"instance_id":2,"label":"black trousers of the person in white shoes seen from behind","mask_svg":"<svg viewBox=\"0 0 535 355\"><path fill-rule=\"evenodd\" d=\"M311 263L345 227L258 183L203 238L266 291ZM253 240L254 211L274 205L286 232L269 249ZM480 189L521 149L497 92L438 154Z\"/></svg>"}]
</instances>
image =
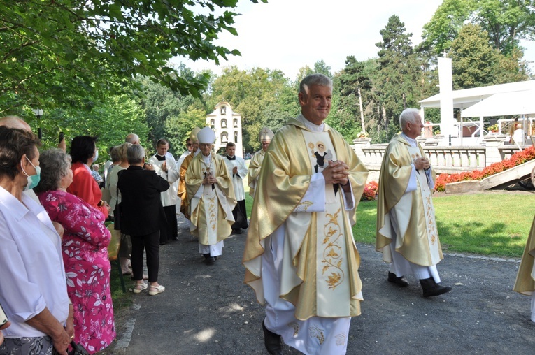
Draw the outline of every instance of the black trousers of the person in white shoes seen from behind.
<instances>
[{"instance_id":1,"label":"black trousers of the person in white shoes seen from behind","mask_svg":"<svg viewBox=\"0 0 535 355\"><path fill-rule=\"evenodd\" d=\"M132 276L134 280L143 280L143 252L147 250L147 270L149 282L158 281L159 269L159 231L145 236L130 236L132 241Z\"/></svg>"}]
</instances>

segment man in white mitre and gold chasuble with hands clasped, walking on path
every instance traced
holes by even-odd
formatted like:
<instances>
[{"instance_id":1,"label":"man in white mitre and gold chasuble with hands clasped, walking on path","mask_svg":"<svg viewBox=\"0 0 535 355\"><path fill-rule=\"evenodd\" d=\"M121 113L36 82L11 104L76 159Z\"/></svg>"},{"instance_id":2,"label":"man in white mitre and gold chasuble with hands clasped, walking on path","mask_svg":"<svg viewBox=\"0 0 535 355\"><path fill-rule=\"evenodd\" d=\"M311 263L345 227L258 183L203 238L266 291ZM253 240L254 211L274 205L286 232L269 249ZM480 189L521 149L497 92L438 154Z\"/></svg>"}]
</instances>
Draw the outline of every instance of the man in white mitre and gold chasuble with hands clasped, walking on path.
<instances>
[{"instance_id":1,"label":"man in white mitre and gold chasuble with hands clasped, walking on path","mask_svg":"<svg viewBox=\"0 0 535 355\"><path fill-rule=\"evenodd\" d=\"M201 154L192 159L185 175L190 233L199 238L199 253L211 264L222 254L223 240L232 231L236 198L227 165L220 155L211 152L215 133L204 127L197 137Z\"/></svg>"}]
</instances>

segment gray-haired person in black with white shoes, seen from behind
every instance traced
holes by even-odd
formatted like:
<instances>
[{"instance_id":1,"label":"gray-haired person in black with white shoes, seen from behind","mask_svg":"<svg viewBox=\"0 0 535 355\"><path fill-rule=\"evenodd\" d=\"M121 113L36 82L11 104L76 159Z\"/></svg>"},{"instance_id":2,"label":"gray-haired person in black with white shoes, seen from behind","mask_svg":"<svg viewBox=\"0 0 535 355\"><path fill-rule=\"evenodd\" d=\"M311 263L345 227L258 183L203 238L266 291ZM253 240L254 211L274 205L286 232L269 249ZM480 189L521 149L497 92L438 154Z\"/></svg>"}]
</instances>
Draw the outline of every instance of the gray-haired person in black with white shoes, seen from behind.
<instances>
[{"instance_id":1,"label":"gray-haired person in black with white shoes, seen from behind","mask_svg":"<svg viewBox=\"0 0 535 355\"><path fill-rule=\"evenodd\" d=\"M134 293L148 288L143 282L143 249L147 249L149 294L161 294L165 287L158 284L159 230L166 224L160 192L169 189L169 182L159 177L154 168L145 164L145 150L132 145L127 150L130 164L122 171L117 182L121 196L121 232L132 241L132 275L136 280Z\"/></svg>"}]
</instances>

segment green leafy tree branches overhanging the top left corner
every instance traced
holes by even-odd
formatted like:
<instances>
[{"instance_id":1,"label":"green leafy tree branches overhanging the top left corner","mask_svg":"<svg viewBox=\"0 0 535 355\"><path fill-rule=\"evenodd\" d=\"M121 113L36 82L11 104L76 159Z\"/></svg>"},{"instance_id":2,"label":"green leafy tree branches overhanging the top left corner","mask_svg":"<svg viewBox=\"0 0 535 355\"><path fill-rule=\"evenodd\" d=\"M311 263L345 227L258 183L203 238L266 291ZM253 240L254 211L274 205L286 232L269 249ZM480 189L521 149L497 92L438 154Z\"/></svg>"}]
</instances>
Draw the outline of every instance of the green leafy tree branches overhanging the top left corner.
<instances>
[{"instance_id":1,"label":"green leafy tree branches overhanging the top left corner","mask_svg":"<svg viewBox=\"0 0 535 355\"><path fill-rule=\"evenodd\" d=\"M135 75L199 96L208 76L184 78L167 62L181 56L218 64L239 55L214 43L224 31L237 35L231 27L237 3L1 1L0 113L14 93L27 106L90 108L93 103L81 98L131 92Z\"/></svg>"}]
</instances>

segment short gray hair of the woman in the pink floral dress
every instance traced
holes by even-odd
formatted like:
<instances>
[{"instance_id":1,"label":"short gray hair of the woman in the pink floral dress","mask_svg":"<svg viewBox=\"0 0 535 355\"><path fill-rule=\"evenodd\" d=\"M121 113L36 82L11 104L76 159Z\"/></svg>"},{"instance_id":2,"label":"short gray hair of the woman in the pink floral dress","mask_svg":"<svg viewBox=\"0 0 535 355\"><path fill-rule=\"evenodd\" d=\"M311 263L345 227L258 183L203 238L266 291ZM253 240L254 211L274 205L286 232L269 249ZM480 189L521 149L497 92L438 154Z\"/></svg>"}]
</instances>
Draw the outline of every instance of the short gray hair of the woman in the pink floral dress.
<instances>
[{"instance_id":1,"label":"short gray hair of the woman in the pink floral dress","mask_svg":"<svg viewBox=\"0 0 535 355\"><path fill-rule=\"evenodd\" d=\"M71 156L61 149L50 148L39 156L39 166L41 166L41 179L34 191L37 193L57 190L59 182L69 173Z\"/></svg>"}]
</instances>

